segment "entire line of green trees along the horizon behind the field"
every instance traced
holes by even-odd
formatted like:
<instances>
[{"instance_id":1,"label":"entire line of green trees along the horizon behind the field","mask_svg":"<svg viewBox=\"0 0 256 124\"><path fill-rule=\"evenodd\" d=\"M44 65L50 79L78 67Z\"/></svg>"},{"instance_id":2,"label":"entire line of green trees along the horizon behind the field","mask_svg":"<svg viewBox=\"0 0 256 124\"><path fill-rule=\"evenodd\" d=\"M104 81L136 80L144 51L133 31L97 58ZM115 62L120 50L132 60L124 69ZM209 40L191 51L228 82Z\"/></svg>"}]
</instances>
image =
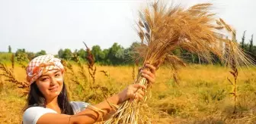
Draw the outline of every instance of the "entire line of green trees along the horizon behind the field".
<instances>
[{"instance_id":1,"label":"entire line of green trees along the horizon behind the field","mask_svg":"<svg viewBox=\"0 0 256 124\"><path fill-rule=\"evenodd\" d=\"M251 39L246 42L245 41L245 33L244 32L241 42L239 42L240 47L250 55L254 60L256 60L256 46L253 45L253 35L251 35ZM99 45L94 45L91 47L91 54L94 55L95 63L104 64L104 65L125 65L125 64L134 64L134 49L136 46L140 45L139 42L133 42L129 48L123 48L123 46L114 43L110 48L101 49ZM11 46L8 46L8 51L11 53ZM46 51L41 50L36 53L28 52L24 48L18 49L15 52L15 57L18 57L21 60L33 59L34 57L46 54ZM174 53L178 57L182 57L188 63L193 64L201 64L203 60L197 55L192 54L188 51L183 51L182 49L177 48ZM63 60L77 60L77 58L81 61L86 61L88 53L86 48L76 49L75 51L71 51L69 48L59 49L56 57L59 57ZM23 58L24 57L24 58ZM216 61L218 63L218 61Z\"/></svg>"}]
</instances>

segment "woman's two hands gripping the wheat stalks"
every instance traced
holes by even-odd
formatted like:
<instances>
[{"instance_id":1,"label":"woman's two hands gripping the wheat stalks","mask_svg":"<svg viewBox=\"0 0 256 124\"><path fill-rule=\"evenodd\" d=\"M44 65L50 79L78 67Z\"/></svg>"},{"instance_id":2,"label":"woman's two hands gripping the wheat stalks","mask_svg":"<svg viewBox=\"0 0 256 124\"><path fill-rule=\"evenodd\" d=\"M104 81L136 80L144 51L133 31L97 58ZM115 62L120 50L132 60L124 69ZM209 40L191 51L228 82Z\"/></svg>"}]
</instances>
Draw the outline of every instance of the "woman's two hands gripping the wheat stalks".
<instances>
[{"instance_id":1,"label":"woman's two hands gripping the wheat stalks","mask_svg":"<svg viewBox=\"0 0 256 124\"><path fill-rule=\"evenodd\" d=\"M150 64L146 64L146 67L149 70L140 70L139 73L142 73L142 76L148 80L149 85L155 82L155 67ZM118 104L126 101L128 99L139 99L142 100L145 95L144 90L146 89L145 85L133 84L129 85L123 91L121 91L117 96L119 98Z\"/></svg>"}]
</instances>

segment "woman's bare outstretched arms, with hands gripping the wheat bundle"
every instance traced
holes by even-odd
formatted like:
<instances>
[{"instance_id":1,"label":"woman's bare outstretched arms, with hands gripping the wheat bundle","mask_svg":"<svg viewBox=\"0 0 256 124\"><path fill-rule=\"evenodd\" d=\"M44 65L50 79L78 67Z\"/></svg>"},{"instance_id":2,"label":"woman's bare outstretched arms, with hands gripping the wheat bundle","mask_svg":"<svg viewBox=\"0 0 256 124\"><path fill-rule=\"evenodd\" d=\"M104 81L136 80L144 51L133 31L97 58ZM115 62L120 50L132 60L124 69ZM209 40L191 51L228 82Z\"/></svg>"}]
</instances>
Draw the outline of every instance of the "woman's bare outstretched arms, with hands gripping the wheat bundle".
<instances>
[{"instance_id":1,"label":"woman's bare outstretched arms, with hands gripping the wheat bundle","mask_svg":"<svg viewBox=\"0 0 256 124\"><path fill-rule=\"evenodd\" d=\"M146 67L149 67L151 72L142 70L142 76L148 79L149 83L155 82L155 67L152 67L151 65L146 65ZM107 100L102 101L100 104L93 106L102 111L95 110L89 106L82 112L72 116L59 113L46 113L43 116L40 116L40 118L37 120L37 124L91 124L97 121L101 121L102 117L106 116L110 111L113 111L113 108L110 106L110 104L120 104L123 101L134 98L142 99L144 92L141 90L141 88L145 89L146 86L139 84L129 85L119 94L113 95L112 97L107 98Z\"/></svg>"}]
</instances>

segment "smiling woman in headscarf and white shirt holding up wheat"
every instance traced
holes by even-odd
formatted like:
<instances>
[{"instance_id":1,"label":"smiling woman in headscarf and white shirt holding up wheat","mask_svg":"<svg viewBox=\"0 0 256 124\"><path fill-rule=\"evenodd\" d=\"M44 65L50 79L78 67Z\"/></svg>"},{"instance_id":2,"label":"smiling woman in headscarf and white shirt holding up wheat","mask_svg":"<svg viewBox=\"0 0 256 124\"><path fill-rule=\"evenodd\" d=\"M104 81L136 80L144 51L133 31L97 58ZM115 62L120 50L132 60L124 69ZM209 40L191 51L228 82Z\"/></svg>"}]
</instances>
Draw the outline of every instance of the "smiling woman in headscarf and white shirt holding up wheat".
<instances>
[{"instance_id":1,"label":"smiling woman in headscarf and white shirt holding up wheat","mask_svg":"<svg viewBox=\"0 0 256 124\"><path fill-rule=\"evenodd\" d=\"M155 82L155 67L147 64L150 71L142 70L142 76L149 83ZM69 124L94 123L101 121L107 113L113 111L110 104L121 104L129 99L142 99L144 85L129 85L117 95L113 95L100 104L93 106L85 102L69 102L66 86L63 80L64 67L53 55L42 55L30 61L27 67L27 81L30 82L30 92L27 107L24 110L24 124ZM139 90L138 90L139 89ZM95 110L95 108L101 111Z\"/></svg>"}]
</instances>

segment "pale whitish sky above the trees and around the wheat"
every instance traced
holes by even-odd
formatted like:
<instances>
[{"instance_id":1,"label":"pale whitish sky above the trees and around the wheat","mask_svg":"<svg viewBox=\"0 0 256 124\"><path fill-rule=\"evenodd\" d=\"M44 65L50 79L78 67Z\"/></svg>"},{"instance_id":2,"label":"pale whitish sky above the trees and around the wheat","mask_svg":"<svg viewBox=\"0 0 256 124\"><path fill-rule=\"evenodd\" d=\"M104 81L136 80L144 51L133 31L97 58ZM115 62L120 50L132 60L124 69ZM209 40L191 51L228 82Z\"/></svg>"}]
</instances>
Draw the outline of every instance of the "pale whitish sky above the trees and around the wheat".
<instances>
[{"instance_id":1,"label":"pale whitish sky above the trees and around the wheat","mask_svg":"<svg viewBox=\"0 0 256 124\"><path fill-rule=\"evenodd\" d=\"M25 48L56 54L59 48L84 48L114 42L127 48L135 42L138 10L149 0L0 0L0 51ZM240 40L256 37L254 0L173 0L190 6L212 2L218 17L237 30ZM255 40L254 40L255 41Z\"/></svg>"}]
</instances>

